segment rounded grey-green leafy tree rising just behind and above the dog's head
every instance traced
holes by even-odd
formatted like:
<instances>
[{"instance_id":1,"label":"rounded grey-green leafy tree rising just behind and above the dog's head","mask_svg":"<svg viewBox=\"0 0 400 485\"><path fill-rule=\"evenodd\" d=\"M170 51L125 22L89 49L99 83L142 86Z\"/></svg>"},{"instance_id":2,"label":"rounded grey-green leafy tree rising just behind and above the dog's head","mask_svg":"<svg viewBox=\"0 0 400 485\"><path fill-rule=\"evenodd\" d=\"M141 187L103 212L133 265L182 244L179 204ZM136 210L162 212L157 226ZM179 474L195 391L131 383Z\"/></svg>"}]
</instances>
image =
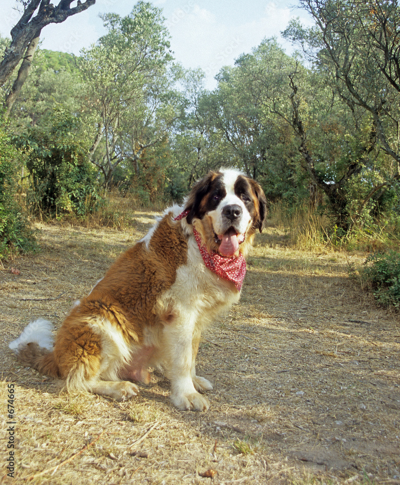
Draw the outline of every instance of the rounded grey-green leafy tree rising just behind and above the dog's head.
<instances>
[{"instance_id":1,"label":"rounded grey-green leafy tree rising just behind and above the dog's head","mask_svg":"<svg viewBox=\"0 0 400 485\"><path fill-rule=\"evenodd\" d=\"M275 39L266 39L234 67L217 75L213 121L231 147L231 156L249 176L262 181L270 199L293 203L304 194L296 164L299 154L293 133L282 114L271 108L275 93L286 112L289 88L286 73L294 65ZM299 184L300 182L300 184Z\"/></svg>"}]
</instances>

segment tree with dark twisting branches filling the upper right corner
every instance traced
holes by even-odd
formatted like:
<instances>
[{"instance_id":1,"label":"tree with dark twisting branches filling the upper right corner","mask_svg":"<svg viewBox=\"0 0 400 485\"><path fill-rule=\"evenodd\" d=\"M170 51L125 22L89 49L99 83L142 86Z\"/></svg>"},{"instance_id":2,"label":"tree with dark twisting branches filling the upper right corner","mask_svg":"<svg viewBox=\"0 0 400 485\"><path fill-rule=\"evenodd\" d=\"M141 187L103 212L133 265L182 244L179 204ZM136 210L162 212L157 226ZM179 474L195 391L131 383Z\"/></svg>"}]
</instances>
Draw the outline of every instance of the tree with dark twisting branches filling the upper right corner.
<instances>
[{"instance_id":1,"label":"tree with dark twisting branches filling the upper right corner","mask_svg":"<svg viewBox=\"0 0 400 485\"><path fill-rule=\"evenodd\" d=\"M396 0L300 0L300 4L316 26L306 30L292 21L284 36L326 73L359 133L369 125L358 157L352 160L353 174L372 169L378 176L371 178L357 219L373 196L400 179L400 9ZM350 178L351 171L349 165Z\"/></svg>"}]
</instances>

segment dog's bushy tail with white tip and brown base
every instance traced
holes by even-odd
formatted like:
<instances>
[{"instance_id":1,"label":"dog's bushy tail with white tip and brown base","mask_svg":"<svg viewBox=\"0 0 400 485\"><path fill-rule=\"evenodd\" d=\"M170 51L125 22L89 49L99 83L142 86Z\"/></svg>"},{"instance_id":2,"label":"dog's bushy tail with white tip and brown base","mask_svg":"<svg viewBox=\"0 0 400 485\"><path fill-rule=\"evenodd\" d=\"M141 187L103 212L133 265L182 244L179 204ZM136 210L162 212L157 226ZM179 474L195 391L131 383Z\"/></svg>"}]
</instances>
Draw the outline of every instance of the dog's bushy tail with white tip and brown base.
<instances>
[{"instance_id":1,"label":"dog's bushy tail with white tip and brown base","mask_svg":"<svg viewBox=\"0 0 400 485\"><path fill-rule=\"evenodd\" d=\"M27 367L32 367L41 374L60 377L60 371L52 352L52 323L38 319L29 323L21 335L13 340L9 347L14 350L18 360Z\"/></svg>"}]
</instances>

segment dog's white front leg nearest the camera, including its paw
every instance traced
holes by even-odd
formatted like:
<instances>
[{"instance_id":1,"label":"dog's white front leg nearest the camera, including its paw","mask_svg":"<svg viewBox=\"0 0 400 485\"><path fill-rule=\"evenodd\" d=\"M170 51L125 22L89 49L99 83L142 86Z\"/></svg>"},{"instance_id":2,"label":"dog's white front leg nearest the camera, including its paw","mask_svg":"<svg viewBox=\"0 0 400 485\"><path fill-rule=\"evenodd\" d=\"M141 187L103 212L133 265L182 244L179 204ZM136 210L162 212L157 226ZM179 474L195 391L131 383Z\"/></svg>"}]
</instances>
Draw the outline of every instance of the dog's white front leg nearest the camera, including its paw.
<instances>
[{"instance_id":1,"label":"dog's white front leg nearest the camera, including its paw","mask_svg":"<svg viewBox=\"0 0 400 485\"><path fill-rule=\"evenodd\" d=\"M210 403L196 390L192 379L194 331L194 317L178 318L164 327L166 374L171 381L171 401L176 407L182 410L205 411Z\"/></svg>"}]
</instances>

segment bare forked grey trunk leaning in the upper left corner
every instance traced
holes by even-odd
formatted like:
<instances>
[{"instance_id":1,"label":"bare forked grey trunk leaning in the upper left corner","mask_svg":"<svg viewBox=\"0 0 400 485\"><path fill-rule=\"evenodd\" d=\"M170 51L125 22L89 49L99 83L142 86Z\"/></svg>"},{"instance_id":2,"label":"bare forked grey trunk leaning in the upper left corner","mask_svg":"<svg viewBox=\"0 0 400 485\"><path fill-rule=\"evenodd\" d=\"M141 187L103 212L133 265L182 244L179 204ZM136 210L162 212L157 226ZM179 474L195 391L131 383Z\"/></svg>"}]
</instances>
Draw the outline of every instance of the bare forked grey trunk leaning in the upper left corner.
<instances>
[{"instance_id":1,"label":"bare forked grey trunk leaning in the upper left corner","mask_svg":"<svg viewBox=\"0 0 400 485\"><path fill-rule=\"evenodd\" d=\"M71 7L72 0L60 0L56 6L50 3L50 0L17 1L23 6L24 11L17 24L11 29L11 43L5 49L0 63L0 86L2 86L23 59L17 80L5 100L7 113L10 112L28 76L43 27L50 23L64 22L69 16L86 10L96 2L96 0L86 0L83 3L78 1L75 7Z\"/></svg>"}]
</instances>

